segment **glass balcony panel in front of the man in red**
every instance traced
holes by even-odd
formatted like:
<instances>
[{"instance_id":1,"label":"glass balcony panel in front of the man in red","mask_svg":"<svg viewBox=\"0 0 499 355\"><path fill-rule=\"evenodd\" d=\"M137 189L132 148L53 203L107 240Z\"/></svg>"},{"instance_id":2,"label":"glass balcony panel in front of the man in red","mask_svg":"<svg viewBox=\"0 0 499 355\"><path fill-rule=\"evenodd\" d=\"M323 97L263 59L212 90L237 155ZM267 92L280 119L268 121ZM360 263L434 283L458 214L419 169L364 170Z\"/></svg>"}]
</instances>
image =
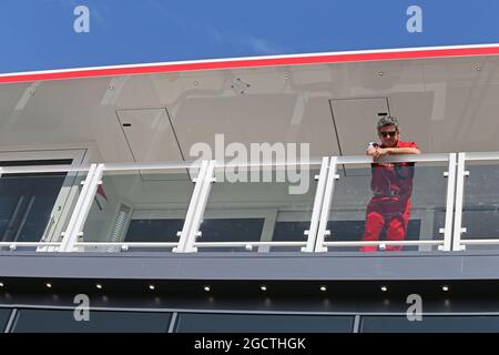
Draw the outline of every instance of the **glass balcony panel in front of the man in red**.
<instances>
[{"instance_id":1,"label":"glass balcony panel in front of the man in red","mask_svg":"<svg viewBox=\"0 0 499 355\"><path fill-rule=\"evenodd\" d=\"M325 236L329 252L432 251L437 245L352 245L361 241L437 242L445 226L448 163L338 164ZM413 176L413 178L411 178ZM366 222L367 221L367 222ZM349 242L327 245L327 242Z\"/></svg>"}]
</instances>

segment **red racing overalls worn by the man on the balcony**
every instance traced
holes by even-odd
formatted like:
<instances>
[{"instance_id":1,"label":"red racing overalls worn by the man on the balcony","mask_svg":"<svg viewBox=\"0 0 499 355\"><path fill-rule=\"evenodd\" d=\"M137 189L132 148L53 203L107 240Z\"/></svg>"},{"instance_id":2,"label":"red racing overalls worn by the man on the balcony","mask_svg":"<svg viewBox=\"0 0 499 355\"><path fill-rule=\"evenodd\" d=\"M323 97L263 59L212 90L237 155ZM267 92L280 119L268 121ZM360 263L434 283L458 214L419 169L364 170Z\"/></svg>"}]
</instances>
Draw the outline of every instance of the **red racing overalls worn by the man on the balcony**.
<instances>
[{"instance_id":1,"label":"red racing overalls worn by the man on the balcony","mask_svg":"<svg viewBox=\"0 0 499 355\"><path fill-rule=\"evenodd\" d=\"M385 148L384 145L375 146ZM398 141L396 148L418 148L415 142ZM386 226L387 241L403 241L410 213L414 163L374 163L370 189L373 197L367 205L363 241L378 241ZM401 245L387 245L387 251L400 251ZM365 245L361 252L375 252L376 245Z\"/></svg>"}]
</instances>

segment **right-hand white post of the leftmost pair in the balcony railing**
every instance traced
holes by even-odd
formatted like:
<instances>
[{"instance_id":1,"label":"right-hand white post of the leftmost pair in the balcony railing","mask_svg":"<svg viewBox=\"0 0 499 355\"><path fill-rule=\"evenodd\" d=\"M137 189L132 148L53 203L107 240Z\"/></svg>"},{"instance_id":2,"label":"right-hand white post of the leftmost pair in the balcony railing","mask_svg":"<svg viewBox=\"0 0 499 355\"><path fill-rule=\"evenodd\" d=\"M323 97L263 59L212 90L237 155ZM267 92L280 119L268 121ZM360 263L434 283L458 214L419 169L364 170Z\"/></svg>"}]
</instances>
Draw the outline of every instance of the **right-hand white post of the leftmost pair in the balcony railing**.
<instances>
[{"instance_id":1,"label":"right-hand white post of the leftmost pair in the balcony railing","mask_svg":"<svg viewBox=\"0 0 499 355\"><path fill-rule=\"evenodd\" d=\"M64 234L64 239L62 240L61 252L74 252L74 243L78 243L78 239L83 235L83 226L89 215L90 209L92 207L92 202L98 191L100 184L102 184L102 174L104 171L104 164L99 164L93 171L93 174L86 176L85 182L83 184L82 194L78 202L80 203L79 210L74 211L71 220L73 220L73 224L68 226L68 230ZM85 189L86 187L86 189ZM78 205L77 202L77 205ZM71 223L71 221L70 221Z\"/></svg>"}]
</instances>

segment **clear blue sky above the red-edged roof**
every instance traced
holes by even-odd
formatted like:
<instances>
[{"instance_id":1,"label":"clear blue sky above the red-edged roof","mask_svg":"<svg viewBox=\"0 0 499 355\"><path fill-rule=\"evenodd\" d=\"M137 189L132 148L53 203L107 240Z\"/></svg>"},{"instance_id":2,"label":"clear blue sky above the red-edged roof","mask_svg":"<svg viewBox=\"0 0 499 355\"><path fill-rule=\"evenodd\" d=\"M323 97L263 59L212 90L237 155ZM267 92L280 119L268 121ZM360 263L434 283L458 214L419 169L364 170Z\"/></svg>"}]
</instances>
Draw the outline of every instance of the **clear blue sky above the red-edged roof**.
<instances>
[{"instance_id":1,"label":"clear blue sky above the red-edged roof","mask_svg":"<svg viewBox=\"0 0 499 355\"><path fill-rule=\"evenodd\" d=\"M77 6L90 32L75 33ZM406 30L409 6L422 33ZM1 0L0 73L499 42L497 0Z\"/></svg>"}]
</instances>

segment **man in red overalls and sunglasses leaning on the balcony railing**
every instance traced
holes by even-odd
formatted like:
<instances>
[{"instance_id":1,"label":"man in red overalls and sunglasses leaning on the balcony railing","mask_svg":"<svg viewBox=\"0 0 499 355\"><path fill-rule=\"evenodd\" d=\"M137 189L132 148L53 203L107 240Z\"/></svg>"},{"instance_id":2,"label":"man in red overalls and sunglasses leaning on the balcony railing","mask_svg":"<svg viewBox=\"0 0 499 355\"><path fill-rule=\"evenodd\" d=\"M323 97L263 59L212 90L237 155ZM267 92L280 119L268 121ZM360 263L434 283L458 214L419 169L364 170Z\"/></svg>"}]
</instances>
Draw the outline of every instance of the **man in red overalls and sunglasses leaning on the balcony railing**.
<instances>
[{"instance_id":1,"label":"man in red overalls and sunglasses leaning on the balcony railing","mask_svg":"<svg viewBox=\"0 0 499 355\"><path fill-rule=\"evenodd\" d=\"M398 121L393 116L379 119L377 124L381 144L370 143L367 155L373 155L373 197L367 205L366 227L363 241L378 241L386 226L387 241L403 241L406 236L410 213L414 163L377 163L383 155L420 154L415 142L400 141ZM387 245L387 251L400 251L401 245ZM361 252L375 252L376 245L365 245Z\"/></svg>"}]
</instances>

